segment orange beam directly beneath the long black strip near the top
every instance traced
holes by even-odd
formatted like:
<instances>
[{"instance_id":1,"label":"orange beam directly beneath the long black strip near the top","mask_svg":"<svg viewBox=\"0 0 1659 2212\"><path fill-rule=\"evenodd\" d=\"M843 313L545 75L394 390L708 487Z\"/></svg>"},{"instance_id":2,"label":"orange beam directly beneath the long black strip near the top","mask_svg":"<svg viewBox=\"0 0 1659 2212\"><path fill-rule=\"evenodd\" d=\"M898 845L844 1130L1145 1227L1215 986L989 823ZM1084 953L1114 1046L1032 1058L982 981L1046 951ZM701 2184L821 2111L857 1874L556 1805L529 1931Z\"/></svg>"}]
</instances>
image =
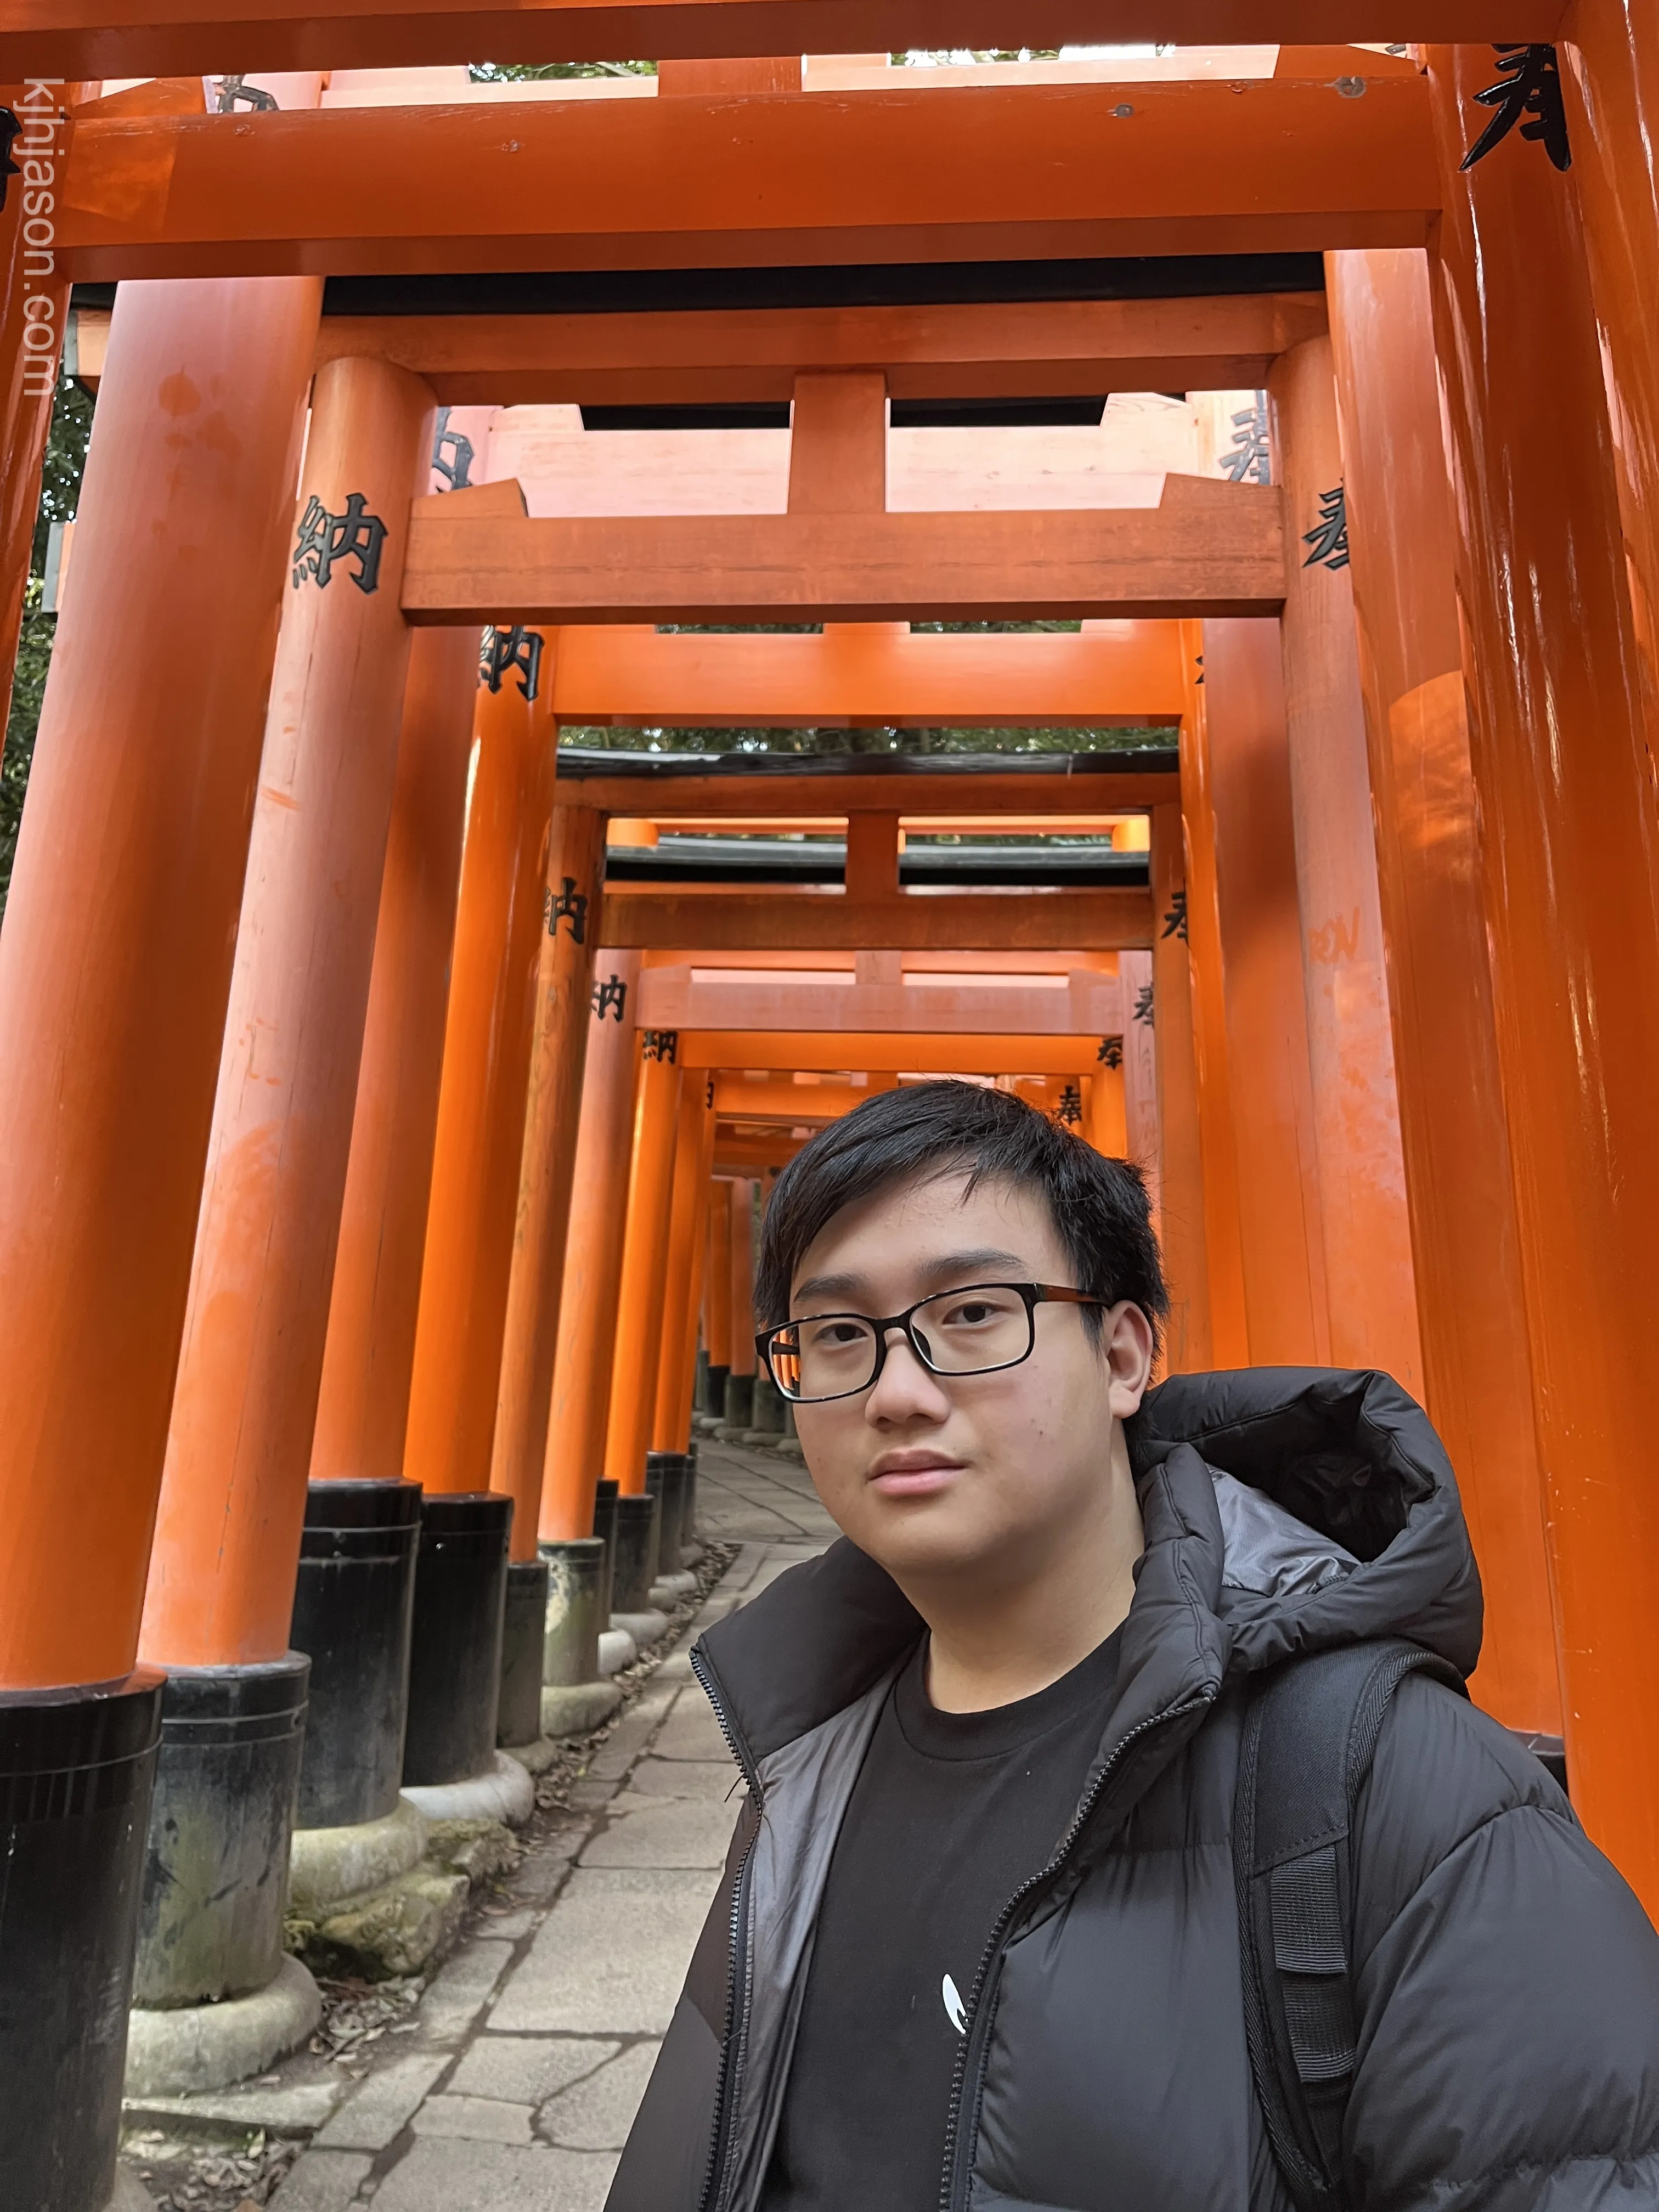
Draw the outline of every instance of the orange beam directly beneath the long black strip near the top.
<instances>
[{"instance_id":1,"label":"orange beam directly beneath the long black strip near the top","mask_svg":"<svg viewBox=\"0 0 1659 2212\"><path fill-rule=\"evenodd\" d=\"M891 398L1237 392L1325 330L1318 292L754 307L684 314L330 314L323 361L376 354L451 407L787 400L796 369L885 367Z\"/></svg>"}]
</instances>

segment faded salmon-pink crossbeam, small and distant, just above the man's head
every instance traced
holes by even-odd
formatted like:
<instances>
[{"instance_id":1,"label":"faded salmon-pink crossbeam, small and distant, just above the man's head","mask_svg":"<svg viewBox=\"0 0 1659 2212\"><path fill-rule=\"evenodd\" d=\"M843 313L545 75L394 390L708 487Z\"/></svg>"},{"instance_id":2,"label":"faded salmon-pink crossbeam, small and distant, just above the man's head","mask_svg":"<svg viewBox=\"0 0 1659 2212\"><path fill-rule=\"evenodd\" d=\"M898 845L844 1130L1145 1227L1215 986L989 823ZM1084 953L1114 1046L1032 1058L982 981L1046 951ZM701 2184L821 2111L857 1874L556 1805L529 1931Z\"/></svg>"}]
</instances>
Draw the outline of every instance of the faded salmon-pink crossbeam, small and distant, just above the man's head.
<instances>
[{"instance_id":1,"label":"faded salmon-pink crossbeam, small and distant, just above the man's head","mask_svg":"<svg viewBox=\"0 0 1659 2212\"><path fill-rule=\"evenodd\" d=\"M1113 1035L1124 1029L1117 975L1077 973L1068 989L938 982L692 982L690 967L639 975L644 1029L765 1029L894 1035ZM750 1062L752 1064L752 1062Z\"/></svg>"}]
</instances>

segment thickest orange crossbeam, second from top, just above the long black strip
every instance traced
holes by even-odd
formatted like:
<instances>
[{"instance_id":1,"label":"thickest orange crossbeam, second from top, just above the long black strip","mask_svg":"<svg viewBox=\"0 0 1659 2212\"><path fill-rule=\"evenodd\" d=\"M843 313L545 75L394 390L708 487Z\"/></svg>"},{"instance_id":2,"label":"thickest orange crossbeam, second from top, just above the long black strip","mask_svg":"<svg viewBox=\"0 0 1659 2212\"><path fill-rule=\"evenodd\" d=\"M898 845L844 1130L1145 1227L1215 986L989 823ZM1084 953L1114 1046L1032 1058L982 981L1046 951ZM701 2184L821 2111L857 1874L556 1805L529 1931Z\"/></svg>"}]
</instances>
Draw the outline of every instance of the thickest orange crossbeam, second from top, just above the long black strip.
<instances>
[{"instance_id":1,"label":"thickest orange crossbeam, second from top, just above the long black strip","mask_svg":"<svg viewBox=\"0 0 1659 2212\"><path fill-rule=\"evenodd\" d=\"M902 73L896 73L902 75ZM1425 82L1022 84L88 119L77 279L1422 246Z\"/></svg>"}]
</instances>

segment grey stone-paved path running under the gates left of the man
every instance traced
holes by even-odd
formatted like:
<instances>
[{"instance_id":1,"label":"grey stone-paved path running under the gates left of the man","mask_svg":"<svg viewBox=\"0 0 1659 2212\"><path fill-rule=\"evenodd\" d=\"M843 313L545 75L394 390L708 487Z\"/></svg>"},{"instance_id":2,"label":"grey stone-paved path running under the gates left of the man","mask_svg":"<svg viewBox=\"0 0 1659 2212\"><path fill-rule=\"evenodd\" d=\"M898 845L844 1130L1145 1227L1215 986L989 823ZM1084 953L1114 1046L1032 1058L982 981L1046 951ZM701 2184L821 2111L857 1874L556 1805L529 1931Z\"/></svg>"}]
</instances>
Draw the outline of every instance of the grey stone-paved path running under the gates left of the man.
<instances>
[{"instance_id":1,"label":"grey stone-paved path running under the gates left of the man","mask_svg":"<svg viewBox=\"0 0 1659 2212\"><path fill-rule=\"evenodd\" d=\"M739 1557L511 1876L504 1913L316 2112L274 2212L604 2205L737 1818L690 1644L834 1535L805 1471L765 1451L706 1444L699 1491L703 1533L743 1540Z\"/></svg>"}]
</instances>

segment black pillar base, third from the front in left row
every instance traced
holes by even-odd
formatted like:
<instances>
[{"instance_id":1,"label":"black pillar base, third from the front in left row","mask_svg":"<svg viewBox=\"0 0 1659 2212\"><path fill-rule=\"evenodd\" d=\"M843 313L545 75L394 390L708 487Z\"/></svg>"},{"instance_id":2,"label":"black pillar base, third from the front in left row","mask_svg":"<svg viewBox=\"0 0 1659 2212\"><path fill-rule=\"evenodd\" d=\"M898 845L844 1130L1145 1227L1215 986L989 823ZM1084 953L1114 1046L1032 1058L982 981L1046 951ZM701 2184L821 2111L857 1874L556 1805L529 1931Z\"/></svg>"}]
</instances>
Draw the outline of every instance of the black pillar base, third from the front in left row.
<instances>
[{"instance_id":1,"label":"black pillar base, third from the front in left row","mask_svg":"<svg viewBox=\"0 0 1659 2212\"><path fill-rule=\"evenodd\" d=\"M312 1661L299 1827L398 1809L409 1714L418 1482L312 1482L288 1641Z\"/></svg>"}]
</instances>

